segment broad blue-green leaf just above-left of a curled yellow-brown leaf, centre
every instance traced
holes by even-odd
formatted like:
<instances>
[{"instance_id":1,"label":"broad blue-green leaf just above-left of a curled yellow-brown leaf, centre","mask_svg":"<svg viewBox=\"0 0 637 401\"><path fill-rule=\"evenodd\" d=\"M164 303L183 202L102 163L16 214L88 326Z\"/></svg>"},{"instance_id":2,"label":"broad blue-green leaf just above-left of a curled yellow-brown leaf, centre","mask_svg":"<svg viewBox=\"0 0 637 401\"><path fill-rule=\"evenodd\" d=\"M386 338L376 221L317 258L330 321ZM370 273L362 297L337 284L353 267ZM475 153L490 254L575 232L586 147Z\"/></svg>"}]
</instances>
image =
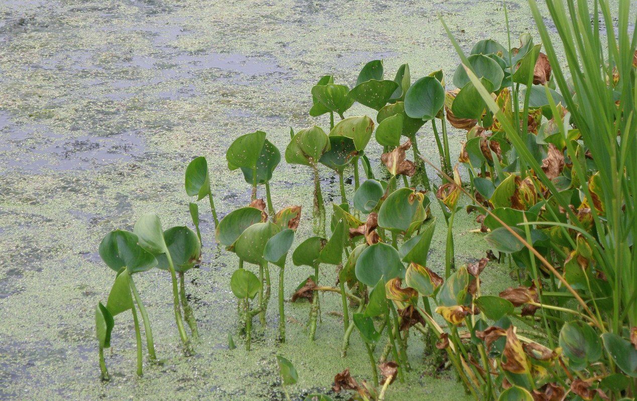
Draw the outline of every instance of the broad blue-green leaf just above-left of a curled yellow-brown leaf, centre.
<instances>
[{"instance_id":1,"label":"broad blue-green leaf just above-left of a curled yellow-brown leaf, centre","mask_svg":"<svg viewBox=\"0 0 637 401\"><path fill-rule=\"evenodd\" d=\"M385 282L395 277L404 278L405 268L398 251L386 243L375 243L361 252L356 261L356 278L370 287L380 278Z\"/></svg>"}]
</instances>

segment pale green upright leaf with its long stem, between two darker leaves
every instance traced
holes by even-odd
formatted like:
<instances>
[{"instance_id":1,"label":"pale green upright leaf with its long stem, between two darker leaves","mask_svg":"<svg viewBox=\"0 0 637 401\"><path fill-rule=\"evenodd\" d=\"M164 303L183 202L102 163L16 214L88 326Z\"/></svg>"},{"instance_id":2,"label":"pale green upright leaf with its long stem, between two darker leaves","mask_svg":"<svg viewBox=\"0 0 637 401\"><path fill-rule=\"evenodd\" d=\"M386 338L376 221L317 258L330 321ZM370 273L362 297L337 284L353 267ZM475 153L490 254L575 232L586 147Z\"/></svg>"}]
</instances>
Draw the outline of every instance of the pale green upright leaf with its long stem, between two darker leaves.
<instances>
[{"instance_id":1,"label":"pale green upright leaf with its long stem, between two darker leaves","mask_svg":"<svg viewBox=\"0 0 637 401\"><path fill-rule=\"evenodd\" d=\"M161 228L161 222L159 216L155 213L147 213L142 215L140 219L135 223L133 232L138 236L139 244L142 248L155 255L166 255L166 262L168 263L168 269L170 271L171 280L173 283L173 307L175 309L175 322L179 331L179 336L182 339L184 352L187 355L192 353L192 344L186 334L186 330L183 327L182 311L180 309L180 297L177 284L177 275L175 270L175 264L173 258L164 240L164 231ZM196 234L195 234L196 236ZM197 243L198 243L197 239Z\"/></svg>"}]
</instances>

